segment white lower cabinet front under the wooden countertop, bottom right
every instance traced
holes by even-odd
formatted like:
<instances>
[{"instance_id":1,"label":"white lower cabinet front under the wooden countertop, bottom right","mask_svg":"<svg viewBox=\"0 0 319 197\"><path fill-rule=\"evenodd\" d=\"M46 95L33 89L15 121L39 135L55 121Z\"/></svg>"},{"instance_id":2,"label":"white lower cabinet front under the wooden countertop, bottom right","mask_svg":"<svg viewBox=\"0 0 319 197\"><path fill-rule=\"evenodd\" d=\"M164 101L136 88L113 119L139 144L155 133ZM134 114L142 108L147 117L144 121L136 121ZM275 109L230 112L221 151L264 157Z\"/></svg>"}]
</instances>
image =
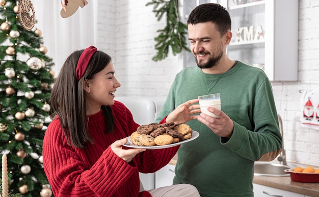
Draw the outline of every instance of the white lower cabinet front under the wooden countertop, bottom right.
<instances>
[{"instance_id":1,"label":"white lower cabinet front under the wooden countertop, bottom right","mask_svg":"<svg viewBox=\"0 0 319 197\"><path fill-rule=\"evenodd\" d=\"M273 187L268 187L259 184L253 184L254 186L254 196L255 197L305 197L304 194L294 193L282 189L277 189Z\"/></svg>"}]
</instances>

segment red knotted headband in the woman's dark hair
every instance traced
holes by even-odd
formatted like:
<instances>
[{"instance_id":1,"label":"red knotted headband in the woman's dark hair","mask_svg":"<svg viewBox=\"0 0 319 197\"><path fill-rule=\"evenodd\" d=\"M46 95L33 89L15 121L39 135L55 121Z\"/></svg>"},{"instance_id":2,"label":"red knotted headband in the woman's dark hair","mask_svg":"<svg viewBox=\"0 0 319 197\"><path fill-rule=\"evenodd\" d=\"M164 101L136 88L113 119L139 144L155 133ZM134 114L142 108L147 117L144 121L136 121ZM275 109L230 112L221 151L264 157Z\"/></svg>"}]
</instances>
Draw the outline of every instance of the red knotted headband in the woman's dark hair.
<instances>
[{"instance_id":1,"label":"red knotted headband in the woman's dark hair","mask_svg":"<svg viewBox=\"0 0 319 197\"><path fill-rule=\"evenodd\" d=\"M78 59L75 70L77 81L79 81L83 77L95 52L97 52L97 48L95 46L89 46L82 52L81 56Z\"/></svg>"}]
</instances>

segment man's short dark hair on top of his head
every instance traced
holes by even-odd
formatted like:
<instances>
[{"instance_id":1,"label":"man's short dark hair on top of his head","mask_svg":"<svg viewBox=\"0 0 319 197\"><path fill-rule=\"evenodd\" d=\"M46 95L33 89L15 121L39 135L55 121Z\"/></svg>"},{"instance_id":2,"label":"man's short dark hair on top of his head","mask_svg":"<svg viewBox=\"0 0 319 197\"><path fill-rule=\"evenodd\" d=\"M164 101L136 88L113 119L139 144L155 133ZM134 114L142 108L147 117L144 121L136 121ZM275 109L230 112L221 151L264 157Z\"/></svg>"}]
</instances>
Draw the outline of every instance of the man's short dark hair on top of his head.
<instances>
[{"instance_id":1,"label":"man's short dark hair on top of his head","mask_svg":"<svg viewBox=\"0 0 319 197\"><path fill-rule=\"evenodd\" d=\"M231 30L231 19L228 11L219 4L201 4L197 6L189 15L187 24L201 22L212 22L217 30L224 35Z\"/></svg>"}]
</instances>

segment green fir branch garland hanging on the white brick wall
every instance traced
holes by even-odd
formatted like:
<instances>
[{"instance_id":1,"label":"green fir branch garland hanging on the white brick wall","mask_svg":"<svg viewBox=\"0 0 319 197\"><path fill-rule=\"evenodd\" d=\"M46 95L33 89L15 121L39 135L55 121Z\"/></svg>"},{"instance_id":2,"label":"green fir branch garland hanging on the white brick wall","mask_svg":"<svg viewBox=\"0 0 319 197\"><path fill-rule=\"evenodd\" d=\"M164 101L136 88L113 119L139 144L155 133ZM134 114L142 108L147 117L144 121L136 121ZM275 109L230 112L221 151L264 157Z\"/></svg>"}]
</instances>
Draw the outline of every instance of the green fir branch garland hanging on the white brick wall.
<instances>
[{"instance_id":1,"label":"green fir branch garland hanging on the white brick wall","mask_svg":"<svg viewBox=\"0 0 319 197\"><path fill-rule=\"evenodd\" d=\"M146 6L153 5L153 12L157 20L161 20L166 14L166 27L162 30L157 30L159 35L154 38L156 41L156 55L152 58L153 61L159 61L167 58L169 48L175 56L182 52L182 49L190 51L187 46L187 25L179 21L178 0L152 0Z\"/></svg>"}]
</instances>

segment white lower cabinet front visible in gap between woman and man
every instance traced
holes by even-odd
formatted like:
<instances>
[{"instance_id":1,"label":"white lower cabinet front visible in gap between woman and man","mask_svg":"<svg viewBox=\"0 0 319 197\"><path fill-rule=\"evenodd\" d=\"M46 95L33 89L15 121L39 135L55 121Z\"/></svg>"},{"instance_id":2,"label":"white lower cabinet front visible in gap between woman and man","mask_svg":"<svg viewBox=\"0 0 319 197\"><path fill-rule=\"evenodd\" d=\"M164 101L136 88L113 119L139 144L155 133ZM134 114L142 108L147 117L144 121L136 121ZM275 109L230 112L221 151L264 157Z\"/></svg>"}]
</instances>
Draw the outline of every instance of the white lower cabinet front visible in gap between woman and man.
<instances>
[{"instance_id":1,"label":"white lower cabinet front visible in gap between woman and man","mask_svg":"<svg viewBox=\"0 0 319 197\"><path fill-rule=\"evenodd\" d=\"M173 184L175 165L167 164L155 173L155 188Z\"/></svg>"}]
</instances>

